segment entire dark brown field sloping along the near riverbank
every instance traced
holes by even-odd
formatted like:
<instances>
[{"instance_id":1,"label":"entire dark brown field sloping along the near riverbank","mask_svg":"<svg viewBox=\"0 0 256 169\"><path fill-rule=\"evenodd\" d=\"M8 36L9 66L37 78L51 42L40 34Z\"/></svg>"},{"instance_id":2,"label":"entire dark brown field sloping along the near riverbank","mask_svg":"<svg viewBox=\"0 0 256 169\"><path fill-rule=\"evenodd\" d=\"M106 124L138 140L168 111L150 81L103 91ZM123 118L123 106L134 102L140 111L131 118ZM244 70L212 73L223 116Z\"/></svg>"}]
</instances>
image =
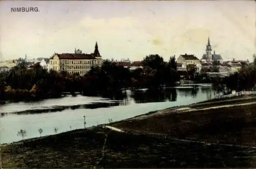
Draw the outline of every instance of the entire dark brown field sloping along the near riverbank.
<instances>
[{"instance_id":1,"label":"entire dark brown field sloping along the near riverbank","mask_svg":"<svg viewBox=\"0 0 256 169\"><path fill-rule=\"evenodd\" d=\"M255 168L254 102L248 96L169 108L108 124L124 132L99 125L1 145L2 168Z\"/></svg>"}]
</instances>

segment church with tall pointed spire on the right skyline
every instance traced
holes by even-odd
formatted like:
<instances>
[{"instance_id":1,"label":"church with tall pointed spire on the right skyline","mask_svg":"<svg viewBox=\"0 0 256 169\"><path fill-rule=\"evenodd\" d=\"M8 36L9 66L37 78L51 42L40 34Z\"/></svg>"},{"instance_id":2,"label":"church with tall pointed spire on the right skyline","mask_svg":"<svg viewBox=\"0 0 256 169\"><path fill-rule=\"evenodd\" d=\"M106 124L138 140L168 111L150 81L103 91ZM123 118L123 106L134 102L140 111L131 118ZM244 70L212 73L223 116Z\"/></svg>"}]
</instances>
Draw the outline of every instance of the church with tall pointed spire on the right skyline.
<instances>
[{"instance_id":1,"label":"church with tall pointed spire on the right skyline","mask_svg":"<svg viewBox=\"0 0 256 169\"><path fill-rule=\"evenodd\" d=\"M208 37L205 54L203 54L201 61L202 62L217 61L217 62L223 63L223 59L220 54L216 54L215 51L213 54L211 52L212 52L212 49L211 49L211 45L210 45L210 38Z\"/></svg>"}]
</instances>

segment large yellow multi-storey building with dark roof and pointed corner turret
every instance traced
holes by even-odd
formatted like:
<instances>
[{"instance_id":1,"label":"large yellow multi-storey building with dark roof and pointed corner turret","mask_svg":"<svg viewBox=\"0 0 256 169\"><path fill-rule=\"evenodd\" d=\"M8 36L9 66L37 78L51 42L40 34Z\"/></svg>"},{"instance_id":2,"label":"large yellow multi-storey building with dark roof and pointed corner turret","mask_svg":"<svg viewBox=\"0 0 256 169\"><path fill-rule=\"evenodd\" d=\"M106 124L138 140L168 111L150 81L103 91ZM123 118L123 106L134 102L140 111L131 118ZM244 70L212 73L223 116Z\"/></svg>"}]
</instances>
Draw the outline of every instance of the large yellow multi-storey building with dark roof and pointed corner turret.
<instances>
[{"instance_id":1,"label":"large yellow multi-storey building with dark roof and pointed corner turret","mask_svg":"<svg viewBox=\"0 0 256 169\"><path fill-rule=\"evenodd\" d=\"M49 69L67 71L68 74L79 74L83 76L87 74L92 67L102 65L102 57L98 50L96 42L94 53L84 54L79 49L75 49L75 53L69 54L53 54L50 58Z\"/></svg>"}]
</instances>

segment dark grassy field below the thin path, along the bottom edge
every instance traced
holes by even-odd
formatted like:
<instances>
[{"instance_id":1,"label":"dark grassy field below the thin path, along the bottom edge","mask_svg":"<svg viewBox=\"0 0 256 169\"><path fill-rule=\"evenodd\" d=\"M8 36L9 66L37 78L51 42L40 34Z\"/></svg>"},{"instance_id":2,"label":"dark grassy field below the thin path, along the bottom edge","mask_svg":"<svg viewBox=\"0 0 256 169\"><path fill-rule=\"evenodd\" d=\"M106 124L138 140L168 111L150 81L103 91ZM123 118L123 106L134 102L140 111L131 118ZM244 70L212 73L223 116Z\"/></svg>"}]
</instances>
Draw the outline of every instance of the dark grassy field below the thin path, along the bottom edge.
<instances>
[{"instance_id":1,"label":"dark grassy field below the thin path, along the bottom edge","mask_svg":"<svg viewBox=\"0 0 256 169\"><path fill-rule=\"evenodd\" d=\"M254 149L107 131L74 131L2 147L3 168L252 167ZM104 157L102 146L104 139ZM100 160L101 159L101 160Z\"/></svg>"}]
</instances>

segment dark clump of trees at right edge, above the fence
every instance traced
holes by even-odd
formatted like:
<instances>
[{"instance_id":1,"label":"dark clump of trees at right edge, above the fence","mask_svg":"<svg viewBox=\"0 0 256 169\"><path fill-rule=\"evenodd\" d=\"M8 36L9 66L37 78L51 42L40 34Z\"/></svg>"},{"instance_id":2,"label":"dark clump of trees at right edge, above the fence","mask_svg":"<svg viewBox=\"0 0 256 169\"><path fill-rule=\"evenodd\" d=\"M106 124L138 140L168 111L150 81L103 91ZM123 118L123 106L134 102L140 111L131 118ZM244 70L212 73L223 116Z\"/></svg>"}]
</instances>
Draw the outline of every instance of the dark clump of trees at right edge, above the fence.
<instances>
[{"instance_id":1,"label":"dark clump of trees at right edge, above the fence","mask_svg":"<svg viewBox=\"0 0 256 169\"><path fill-rule=\"evenodd\" d=\"M256 58L254 56L252 64L242 67L237 73L219 78L213 83L214 89L229 94L232 90L236 91L250 91L255 90L256 84Z\"/></svg>"}]
</instances>

